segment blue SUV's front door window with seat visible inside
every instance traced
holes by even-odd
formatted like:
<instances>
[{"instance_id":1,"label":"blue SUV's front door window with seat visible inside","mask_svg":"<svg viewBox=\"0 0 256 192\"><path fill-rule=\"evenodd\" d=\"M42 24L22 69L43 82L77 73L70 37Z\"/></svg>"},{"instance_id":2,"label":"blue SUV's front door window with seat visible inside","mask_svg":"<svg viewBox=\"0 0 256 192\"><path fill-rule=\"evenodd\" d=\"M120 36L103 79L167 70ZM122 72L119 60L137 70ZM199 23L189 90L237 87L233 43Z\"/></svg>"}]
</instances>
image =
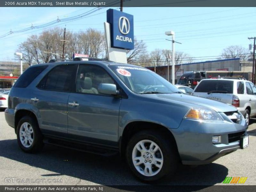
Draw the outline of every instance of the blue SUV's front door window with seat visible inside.
<instances>
[{"instance_id":1,"label":"blue SUV's front door window with seat visible inside","mask_svg":"<svg viewBox=\"0 0 256 192\"><path fill-rule=\"evenodd\" d=\"M99 94L101 83L115 84L109 74L101 67L80 65L76 76L76 92Z\"/></svg>"}]
</instances>

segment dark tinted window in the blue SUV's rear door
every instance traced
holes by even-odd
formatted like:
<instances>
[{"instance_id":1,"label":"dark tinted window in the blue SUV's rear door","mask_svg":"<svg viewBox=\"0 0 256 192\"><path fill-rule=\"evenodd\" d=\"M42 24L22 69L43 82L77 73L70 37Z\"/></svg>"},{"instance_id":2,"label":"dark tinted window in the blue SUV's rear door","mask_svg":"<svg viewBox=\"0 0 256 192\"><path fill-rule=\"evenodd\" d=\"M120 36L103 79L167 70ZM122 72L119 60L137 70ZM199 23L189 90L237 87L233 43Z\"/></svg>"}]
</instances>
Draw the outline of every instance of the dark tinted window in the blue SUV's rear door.
<instances>
[{"instance_id":1,"label":"dark tinted window in the blue SUV's rear door","mask_svg":"<svg viewBox=\"0 0 256 192\"><path fill-rule=\"evenodd\" d=\"M61 65L52 69L37 85L39 89L52 91L71 91L76 76L75 65Z\"/></svg>"}]
</instances>

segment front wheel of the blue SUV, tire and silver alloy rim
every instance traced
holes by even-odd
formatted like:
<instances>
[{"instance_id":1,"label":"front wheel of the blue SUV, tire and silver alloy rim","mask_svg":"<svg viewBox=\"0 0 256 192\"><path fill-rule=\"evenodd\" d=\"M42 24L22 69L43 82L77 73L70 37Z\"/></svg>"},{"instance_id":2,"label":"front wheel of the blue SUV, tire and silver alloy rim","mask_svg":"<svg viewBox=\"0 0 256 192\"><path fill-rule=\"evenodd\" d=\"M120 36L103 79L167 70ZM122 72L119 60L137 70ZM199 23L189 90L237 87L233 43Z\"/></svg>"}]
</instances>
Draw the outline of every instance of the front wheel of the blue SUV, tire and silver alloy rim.
<instances>
[{"instance_id":1,"label":"front wheel of the blue SUV, tire and silver alloy rim","mask_svg":"<svg viewBox=\"0 0 256 192\"><path fill-rule=\"evenodd\" d=\"M155 131L142 131L131 138L126 158L135 176L153 181L175 172L178 155L174 143L169 140Z\"/></svg>"}]
</instances>

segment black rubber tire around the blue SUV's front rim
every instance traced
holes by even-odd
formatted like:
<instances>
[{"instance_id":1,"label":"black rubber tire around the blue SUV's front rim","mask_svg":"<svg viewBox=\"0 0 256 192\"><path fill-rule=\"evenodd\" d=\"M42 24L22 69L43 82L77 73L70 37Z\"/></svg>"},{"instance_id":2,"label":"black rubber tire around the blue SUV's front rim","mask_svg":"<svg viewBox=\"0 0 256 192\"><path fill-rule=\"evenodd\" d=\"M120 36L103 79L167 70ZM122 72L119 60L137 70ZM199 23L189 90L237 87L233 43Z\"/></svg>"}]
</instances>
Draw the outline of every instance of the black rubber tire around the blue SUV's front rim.
<instances>
[{"instance_id":1,"label":"black rubber tire around the blue SUV's front rim","mask_svg":"<svg viewBox=\"0 0 256 192\"><path fill-rule=\"evenodd\" d=\"M162 165L162 168L160 169L160 171L156 175L153 175L153 176L143 175L135 168L135 165L133 164L133 160L132 160L133 148L135 147L135 145L138 142L140 142L142 140L153 141L161 149L161 152L163 154L163 165ZM141 153L140 153L140 156L142 157ZM178 160L179 160L178 157L179 157L179 154L178 154L178 151L176 148L175 141L173 141L172 138L169 138L169 137L167 138L164 134L160 134L153 130L145 130L145 131L136 133L130 139L130 141L128 142L127 148L126 148L126 160L127 160L129 167L131 168L131 170L135 174L135 176L143 181L154 181L154 180L158 180L158 179L164 177L165 175L167 175L169 173L170 173L170 175L174 174L176 171L177 165L178 165ZM140 166L144 166L144 165L141 164ZM152 168L154 165L150 165L150 166ZM141 168L141 171L142 171L142 169L143 169L143 167ZM144 170L145 170L145 168L144 168Z\"/></svg>"}]
</instances>

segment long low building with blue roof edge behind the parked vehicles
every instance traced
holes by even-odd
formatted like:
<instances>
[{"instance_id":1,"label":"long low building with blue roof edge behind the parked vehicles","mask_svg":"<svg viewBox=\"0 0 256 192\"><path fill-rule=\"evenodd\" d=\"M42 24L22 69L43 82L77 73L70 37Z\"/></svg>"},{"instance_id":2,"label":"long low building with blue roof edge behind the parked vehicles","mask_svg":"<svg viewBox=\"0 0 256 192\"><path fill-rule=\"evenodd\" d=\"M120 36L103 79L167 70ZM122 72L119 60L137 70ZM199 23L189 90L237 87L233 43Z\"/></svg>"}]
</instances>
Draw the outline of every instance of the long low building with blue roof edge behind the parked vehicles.
<instances>
[{"instance_id":1,"label":"long low building with blue roof edge behind the parked vehicles","mask_svg":"<svg viewBox=\"0 0 256 192\"><path fill-rule=\"evenodd\" d=\"M155 67L148 67L155 71ZM203 61L195 63L186 63L175 65L175 81L179 80L182 72L188 71L241 71L252 72L252 61L243 61L240 58ZM168 66L157 66L156 73L165 79L168 79ZM169 66L169 81L172 79L172 66Z\"/></svg>"}]
</instances>

